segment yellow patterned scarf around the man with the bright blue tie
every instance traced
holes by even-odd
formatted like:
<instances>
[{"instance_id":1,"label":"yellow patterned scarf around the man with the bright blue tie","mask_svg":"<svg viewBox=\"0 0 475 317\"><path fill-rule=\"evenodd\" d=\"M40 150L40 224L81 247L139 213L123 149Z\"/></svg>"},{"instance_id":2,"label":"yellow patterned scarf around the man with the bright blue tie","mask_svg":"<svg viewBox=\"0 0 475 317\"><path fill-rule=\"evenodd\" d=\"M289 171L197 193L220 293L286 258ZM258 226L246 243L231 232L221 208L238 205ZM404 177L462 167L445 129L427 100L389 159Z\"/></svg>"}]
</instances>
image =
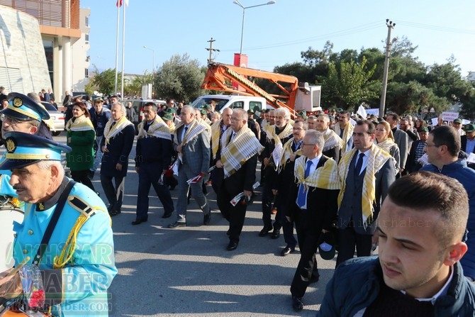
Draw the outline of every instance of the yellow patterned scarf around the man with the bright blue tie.
<instances>
[{"instance_id":1,"label":"yellow patterned scarf around the man with the bright blue tie","mask_svg":"<svg viewBox=\"0 0 475 317\"><path fill-rule=\"evenodd\" d=\"M320 157L321 160L321 157ZM301 156L295 161L294 174L298 184L303 184L306 189L315 187L321 189L340 189L340 179L338 178L338 165L332 158L328 157L325 164L318 167L305 177L307 157Z\"/></svg>"}]
</instances>

